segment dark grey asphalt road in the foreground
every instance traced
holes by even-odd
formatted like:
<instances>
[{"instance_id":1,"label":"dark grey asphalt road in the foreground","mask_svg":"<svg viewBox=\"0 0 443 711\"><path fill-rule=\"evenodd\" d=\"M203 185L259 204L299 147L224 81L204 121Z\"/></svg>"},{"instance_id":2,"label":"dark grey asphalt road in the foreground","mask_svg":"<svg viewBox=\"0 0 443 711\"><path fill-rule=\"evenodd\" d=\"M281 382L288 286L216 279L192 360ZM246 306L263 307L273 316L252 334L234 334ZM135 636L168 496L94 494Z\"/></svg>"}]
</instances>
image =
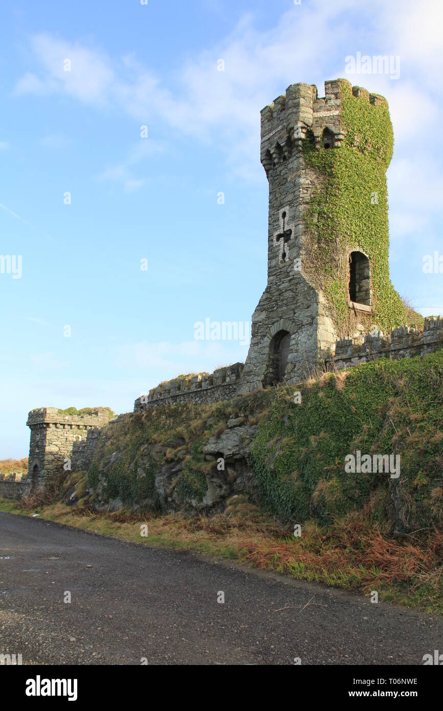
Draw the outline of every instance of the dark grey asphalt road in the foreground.
<instances>
[{"instance_id":1,"label":"dark grey asphalt road in the foreground","mask_svg":"<svg viewBox=\"0 0 443 711\"><path fill-rule=\"evenodd\" d=\"M443 621L417 611L0 513L0 653L23 664L422 665L435 649Z\"/></svg>"}]
</instances>

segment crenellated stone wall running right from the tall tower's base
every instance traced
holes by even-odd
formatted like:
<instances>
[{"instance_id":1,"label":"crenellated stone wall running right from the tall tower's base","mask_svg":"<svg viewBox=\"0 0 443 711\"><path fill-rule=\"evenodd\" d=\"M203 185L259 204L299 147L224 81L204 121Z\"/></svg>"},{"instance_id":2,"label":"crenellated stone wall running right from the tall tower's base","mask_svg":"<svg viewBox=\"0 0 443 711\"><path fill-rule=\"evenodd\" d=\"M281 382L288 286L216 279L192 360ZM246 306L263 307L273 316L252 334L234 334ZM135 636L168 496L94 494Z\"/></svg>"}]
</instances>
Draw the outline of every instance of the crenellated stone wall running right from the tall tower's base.
<instances>
[{"instance_id":1,"label":"crenellated stone wall running right from the tall tower's base","mask_svg":"<svg viewBox=\"0 0 443 711\"><path fill-rule=\"evenodd\" d=\"M378 358L412 358L433 353L443 346L443 319L425 319L423 328L400 326L391 333L372 331L359 338L343 338L336 343L336 354L326 360L329 368L350 368Z\"/></svg>"}]
</instances>

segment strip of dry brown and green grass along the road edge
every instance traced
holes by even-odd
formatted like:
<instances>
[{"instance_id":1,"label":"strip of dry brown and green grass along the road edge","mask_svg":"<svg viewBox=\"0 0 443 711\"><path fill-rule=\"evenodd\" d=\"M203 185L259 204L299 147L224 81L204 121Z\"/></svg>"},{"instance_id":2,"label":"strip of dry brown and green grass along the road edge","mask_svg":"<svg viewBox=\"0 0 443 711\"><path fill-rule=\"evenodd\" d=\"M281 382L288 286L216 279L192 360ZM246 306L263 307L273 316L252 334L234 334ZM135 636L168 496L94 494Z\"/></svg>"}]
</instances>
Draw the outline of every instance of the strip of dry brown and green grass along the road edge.
<instances>
[{"instance_id":1,"label":"strip of dry brown and green grass along the road edge","mask_svg":"<svg viewBox=\"0 0 443 711\"><path fill-rule=\"evenodd\" d=\"M377 504L375 498L373 506ZM28 510L35 510L36 501L42 501L42 497L28 498ZM42 506L39 513L59 523L133 542L233 558L257 568L359 589L365 594L377 590L381 599L395 599L443 614L442 530L393 538L370 522L369 506L329 528L306 522L300 538L294 538L290 526L272 518L244 496L233 497L225 511L211 516L140 515L128 510L96 513L60 502ZM142 523L148 528L143 539Z\"/></svg>"}]
</instances>

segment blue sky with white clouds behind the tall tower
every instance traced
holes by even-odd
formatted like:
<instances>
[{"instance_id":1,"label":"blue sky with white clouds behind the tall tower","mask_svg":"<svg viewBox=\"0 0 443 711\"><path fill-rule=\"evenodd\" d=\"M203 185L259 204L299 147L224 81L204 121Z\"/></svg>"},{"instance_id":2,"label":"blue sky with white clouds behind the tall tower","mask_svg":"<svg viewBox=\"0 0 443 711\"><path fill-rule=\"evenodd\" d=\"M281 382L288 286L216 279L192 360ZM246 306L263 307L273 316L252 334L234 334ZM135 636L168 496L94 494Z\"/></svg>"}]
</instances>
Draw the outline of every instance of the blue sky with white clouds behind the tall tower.
<instances>
[{"instance_id":1,"label":"blue sky with white clouds behind the tall tower","mask_svg":"<svg viewBox=\"0 0 443 711\"><path fill-rule=\"evenodd\" d=\"M265 288L260 109L294 82L324 95L346 76L387 97L391 279L443 314L443 274L422 269L443 255L438 1L18 0L1 14L0 254L22 274L0 274L0 459L28 454L33 407L127 412L161 380L245 360L194 324L250 322ZM346 73L358 52L400 57L400 77Z\"/></svg>"}]
</instances>

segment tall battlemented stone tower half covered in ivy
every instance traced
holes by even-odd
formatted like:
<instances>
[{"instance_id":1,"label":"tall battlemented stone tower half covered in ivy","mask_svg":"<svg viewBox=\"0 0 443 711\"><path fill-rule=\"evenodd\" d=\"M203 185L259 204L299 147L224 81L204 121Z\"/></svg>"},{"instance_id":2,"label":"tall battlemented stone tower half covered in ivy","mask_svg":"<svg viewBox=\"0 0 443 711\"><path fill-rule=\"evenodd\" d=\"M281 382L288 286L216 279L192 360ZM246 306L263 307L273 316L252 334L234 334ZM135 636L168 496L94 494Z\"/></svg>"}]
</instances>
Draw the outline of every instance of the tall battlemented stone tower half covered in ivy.
<instances>
[{"instance_id":1,"label":"tall battlemented stone tower half covered in ivy","mask_svg":"<svg viewBox=\"0 0 443 711\"><path fill-rule=\"evenodd\" d=\"M387 102L346 80L326 81L324 98L314 85L291 85L262 109L267 287L241 392L297 383L339 337L406 322L389 280L392 151Z\"/></svg>"}]
</instances>

